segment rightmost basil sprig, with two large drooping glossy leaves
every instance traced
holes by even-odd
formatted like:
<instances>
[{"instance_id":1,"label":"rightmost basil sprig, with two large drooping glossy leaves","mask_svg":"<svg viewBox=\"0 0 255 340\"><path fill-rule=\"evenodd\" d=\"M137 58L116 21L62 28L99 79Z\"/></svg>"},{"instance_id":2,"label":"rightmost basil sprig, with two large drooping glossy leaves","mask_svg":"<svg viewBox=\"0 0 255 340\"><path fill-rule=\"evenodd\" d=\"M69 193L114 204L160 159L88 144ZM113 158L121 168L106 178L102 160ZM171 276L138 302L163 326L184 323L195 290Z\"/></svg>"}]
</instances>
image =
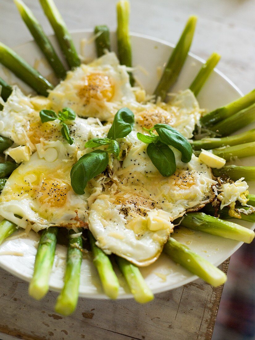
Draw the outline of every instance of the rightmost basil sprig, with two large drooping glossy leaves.
<instances>
[{"instance_id":1,"label":"rightmost basil sprig, with two large drooping glossy leaves","mask_svg":"<svg viewBox=\"0 0 255 340\"><path fill-rule=\"evenodd\" d=\"M153 130L158 134L154 134ZM181 152L182 162L188 163L190 161L192 157L192 147L190 143L180 132L170 125L156 124L147 131L150 136L138 132L137 138L148 144L147 154L162 176L171 176L176 171L175 155L168 147L169 145Z\"/></svg>"}]
</instances>

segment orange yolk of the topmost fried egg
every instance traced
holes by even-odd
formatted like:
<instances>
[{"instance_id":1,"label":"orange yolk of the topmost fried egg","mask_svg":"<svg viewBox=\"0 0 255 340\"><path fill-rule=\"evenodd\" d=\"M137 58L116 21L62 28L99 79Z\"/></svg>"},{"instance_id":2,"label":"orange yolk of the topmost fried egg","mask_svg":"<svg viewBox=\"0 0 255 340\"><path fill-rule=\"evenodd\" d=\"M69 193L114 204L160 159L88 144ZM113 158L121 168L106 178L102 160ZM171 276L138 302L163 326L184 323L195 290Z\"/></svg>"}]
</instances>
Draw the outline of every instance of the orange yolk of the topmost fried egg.
<instances>
[{"instance_id":1,"label":"orange yolk of the topmost fried egg","mask_svg":"<svg viewBox=\"0 0 255 340\"><path fill-rule=\"evenodd\" d=\"M110 101L114 95L114 87L110 78L103 73L91 73L87 75L85 84L79 90L80 98L86 105L91 99L98 101Z\"/></svg>"}]
</instances>

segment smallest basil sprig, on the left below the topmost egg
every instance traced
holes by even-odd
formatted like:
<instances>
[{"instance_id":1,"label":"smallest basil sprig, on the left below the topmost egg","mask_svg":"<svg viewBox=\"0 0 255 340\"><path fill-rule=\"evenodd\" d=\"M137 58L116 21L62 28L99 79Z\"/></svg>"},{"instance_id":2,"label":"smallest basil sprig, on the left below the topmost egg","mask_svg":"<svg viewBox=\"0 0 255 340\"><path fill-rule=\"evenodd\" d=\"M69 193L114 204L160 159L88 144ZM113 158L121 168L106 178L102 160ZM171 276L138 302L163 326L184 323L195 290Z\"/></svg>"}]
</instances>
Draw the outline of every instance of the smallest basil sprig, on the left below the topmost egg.
<instances>
[{"instance_id":1,"label":"smallest basil sprig, on the left below the topmost egg","mask_svg":"<svg viewBox=\"0 0 255 340\"><path fill-rule=\"evenodd\" d=\"M58 119L62 123L61 129L62 136L65 138L66 141L68 141L70 145L73 144L73 138L70 137L69 128L65 123L68 120L75 119L75 112L70 107L64 107L62 111L58 112L58 114L56 114L56 112L53 110L41 110L40 118L42 123Z\"/></svg>"}]
</instances>

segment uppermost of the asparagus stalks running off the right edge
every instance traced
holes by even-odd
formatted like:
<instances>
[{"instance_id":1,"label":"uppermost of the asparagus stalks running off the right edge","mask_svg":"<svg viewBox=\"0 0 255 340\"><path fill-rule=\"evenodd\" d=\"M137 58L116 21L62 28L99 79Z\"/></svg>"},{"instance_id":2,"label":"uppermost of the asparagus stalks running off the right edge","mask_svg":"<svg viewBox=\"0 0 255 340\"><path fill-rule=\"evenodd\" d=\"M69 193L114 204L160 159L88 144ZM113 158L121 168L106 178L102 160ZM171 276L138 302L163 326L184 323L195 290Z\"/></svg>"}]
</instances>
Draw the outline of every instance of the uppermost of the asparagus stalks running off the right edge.
<instances>
[{"instance_id":1,"label":"uppermost of the asparagus stalks running off the right edge","mask_svg":"<svg viewBox=\"0 0 255 340\"><path fill-rule=\"evenodd\" d=\"M255 102L255 89L244 97L229 103L225 106L217 108L216 110L206 114L200 119L200 122L204 126L212 126L223 119L233 116L235 113L242 111L246 107L254 104Z\"/></svg>"}]
</instances>

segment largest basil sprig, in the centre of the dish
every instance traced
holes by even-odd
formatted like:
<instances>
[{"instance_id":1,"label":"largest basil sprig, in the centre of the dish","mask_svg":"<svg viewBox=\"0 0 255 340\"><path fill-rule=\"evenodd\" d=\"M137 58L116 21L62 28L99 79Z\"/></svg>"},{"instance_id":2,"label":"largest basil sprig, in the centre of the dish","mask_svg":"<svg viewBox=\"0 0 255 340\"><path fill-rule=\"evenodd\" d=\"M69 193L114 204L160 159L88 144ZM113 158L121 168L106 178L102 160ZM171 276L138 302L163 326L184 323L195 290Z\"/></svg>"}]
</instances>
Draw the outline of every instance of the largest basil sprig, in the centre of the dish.
<instances>
[{"instance_id":1,"label":"largest basil sprig, in the centre of the dish","mask_svg":"<svg viewBox=\"0 0 255 340\"><path fill-rule=\"evenodd\" d=\"M89 152L74 164L70 176L75 193L84 194L88 181L105 171L109 162L109 154L113 154L115 157L119 156L120 146L116 139L126 137L132 131L133 125L134 114L130 109L124 107L114 116L107 138L93 138L87 141L86 148L108 147L106 150Z\"/></svg>"}]
</instances>

